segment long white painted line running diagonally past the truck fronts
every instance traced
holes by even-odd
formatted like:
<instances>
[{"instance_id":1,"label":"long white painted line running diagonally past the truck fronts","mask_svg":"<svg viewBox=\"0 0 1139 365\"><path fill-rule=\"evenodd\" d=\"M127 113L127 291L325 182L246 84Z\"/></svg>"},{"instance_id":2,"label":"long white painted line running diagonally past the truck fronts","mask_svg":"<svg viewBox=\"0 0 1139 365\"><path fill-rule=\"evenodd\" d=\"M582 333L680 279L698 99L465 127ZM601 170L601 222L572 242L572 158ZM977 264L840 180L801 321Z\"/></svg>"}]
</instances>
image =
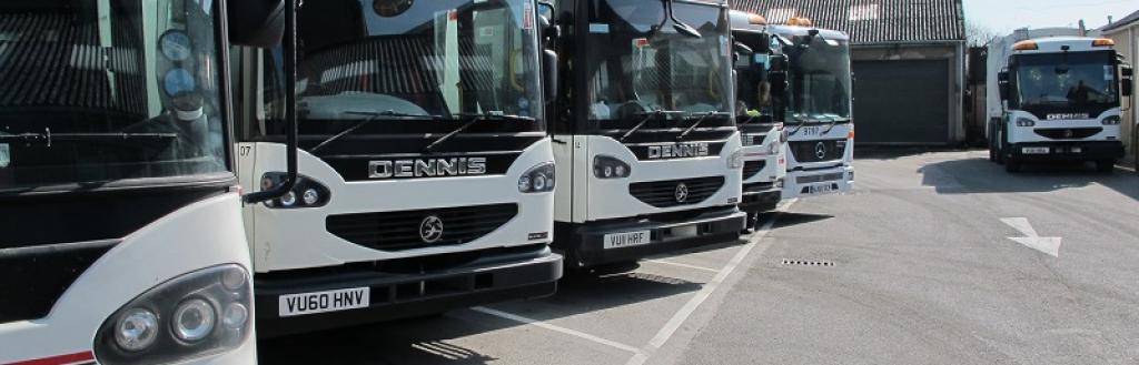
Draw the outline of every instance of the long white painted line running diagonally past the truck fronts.
<instances>
[{"instance_id":1,"label":"long white painted line running diagonally past the truck fronts","mask_svg":"<svg viewBox=\"0 0 1139 365\"><path fill-rule=\"evenodd\" d=\"M779 207L777 211L782 211L797 201L798 199L792 199L786 205ZM736 256L734 256L731 260L728 262L728 265L724 266L722 269L720 269L720 273L716 274L715 277L712 279L712 281L710 281L707 284L704 284L704 288L702 288L700 291L696 293L696 297L689 299L688 302L686 302L685 306L681 307L679 312L677 312L677 314L672 315L672 318L669 320L669 323L666 323L664 327L661 329L661 331L656 332L656 335L653 337L652 340L649 340L648 345L641 348L640 351L637 351L637 354L634 354L633 357L629 358L629 362L625 362L625 365L645 364L646 362L648 362L648 358L653 356L653 352L661 349L661 347L663 347L664 343L669 342L669 339L677 333L677 330L679 330L680 326L683 325L686 321L688 321L688 317L690 317L693 313L695 313L696 309L699 308L699 306L704 304L704 301L707 300L713 292L715 292L716 288L720 288L720 284L722 284L723 281L728 279L728 276L731 275L731 273L735 272L737 267L739 267L739 264L743 263L745 258L747 258L747 255L751 254L752 250L759 244L759 242L763 240L763 238L767 237L768 233L771 232L771 227L775 225L775 223L776 219L768 221L768 223L763 224L763 227L761 227L757 232L752 234L752 239L747 242L746 246L744 246L743 249L736 252ZM760 254L763 251L761 250Z\"/></svg>"}]
</instances>

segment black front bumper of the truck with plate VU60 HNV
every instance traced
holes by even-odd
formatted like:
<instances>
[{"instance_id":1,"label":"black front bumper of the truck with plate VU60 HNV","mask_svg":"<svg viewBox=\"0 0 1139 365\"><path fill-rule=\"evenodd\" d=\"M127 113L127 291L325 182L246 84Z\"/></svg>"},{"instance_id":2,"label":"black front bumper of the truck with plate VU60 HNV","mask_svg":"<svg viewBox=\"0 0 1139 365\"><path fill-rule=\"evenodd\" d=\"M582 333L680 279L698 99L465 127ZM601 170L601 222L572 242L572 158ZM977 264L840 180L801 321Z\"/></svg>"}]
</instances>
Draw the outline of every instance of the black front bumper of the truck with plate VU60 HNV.
<instances>
[{"instance_id":1,"label":"black front bumper of the truck with plate VU60 HNV","mask_svg":"<svg viewBox=\"0 0 1139 365\"><path fill-rule=\"evenodd\" d=\"M279 337L367 323L409 318L513 299L554 295L562 279L562 256L546 244L437 255L396 263L400 272L380 265L349 264L330 268L254 275L257 334ZM450 263L464 262L452 265ZM418 271L405 269L419 267ZM279 298L287 295L370 288L367 308L281 317Z\"/></svg>"}]
</instances>

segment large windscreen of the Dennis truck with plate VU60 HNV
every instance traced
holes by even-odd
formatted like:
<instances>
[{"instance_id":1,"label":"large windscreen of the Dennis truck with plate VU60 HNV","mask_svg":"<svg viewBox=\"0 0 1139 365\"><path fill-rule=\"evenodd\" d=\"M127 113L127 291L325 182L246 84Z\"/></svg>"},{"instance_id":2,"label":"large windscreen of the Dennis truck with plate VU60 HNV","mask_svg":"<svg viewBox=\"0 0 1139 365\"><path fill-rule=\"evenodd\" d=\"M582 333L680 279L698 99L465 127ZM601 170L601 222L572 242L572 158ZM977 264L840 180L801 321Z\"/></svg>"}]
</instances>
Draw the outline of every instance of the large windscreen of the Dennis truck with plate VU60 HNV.
<instances>
[{"instance_id":1,"label":"large windscreen of the Dennis truck with plate VU60 HNV","mask_svg":"<svg viewBox=\"0 0 1139 365\"><path fill-rule=\"evenodd\" d=\"M354 135L448 133L473 115L516 117L470 131L544 128L533 0L308 1L297 22L302 134L363 121ZM267 61L280 118L280 63Z\"/></svg>"}]
</instances>

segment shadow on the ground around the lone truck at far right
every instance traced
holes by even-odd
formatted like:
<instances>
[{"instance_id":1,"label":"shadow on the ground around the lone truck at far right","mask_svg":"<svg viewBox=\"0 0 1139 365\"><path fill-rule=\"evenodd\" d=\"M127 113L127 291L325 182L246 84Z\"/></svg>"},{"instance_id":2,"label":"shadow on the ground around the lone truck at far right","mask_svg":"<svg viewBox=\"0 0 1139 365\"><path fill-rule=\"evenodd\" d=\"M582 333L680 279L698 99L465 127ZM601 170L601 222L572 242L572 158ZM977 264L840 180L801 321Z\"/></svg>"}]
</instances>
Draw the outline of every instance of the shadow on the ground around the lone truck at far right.
<instances>
[{"instance_id":1,"label":"shadow on the ground around the lone truck at far right","mask_svg":"<svg viewBox=\"0 0 1139 365\"><path fill-rule=\"evenodd\" d=\"M932 163L918 173L923 185L942 194L1050 192L1099 184L1139 200L1139 177L1134 173L1097 173L1092 166L1079 163L1027 164L1023 172L1013 174L986 158L966 158Z\"/></svg>"}]
</instances>

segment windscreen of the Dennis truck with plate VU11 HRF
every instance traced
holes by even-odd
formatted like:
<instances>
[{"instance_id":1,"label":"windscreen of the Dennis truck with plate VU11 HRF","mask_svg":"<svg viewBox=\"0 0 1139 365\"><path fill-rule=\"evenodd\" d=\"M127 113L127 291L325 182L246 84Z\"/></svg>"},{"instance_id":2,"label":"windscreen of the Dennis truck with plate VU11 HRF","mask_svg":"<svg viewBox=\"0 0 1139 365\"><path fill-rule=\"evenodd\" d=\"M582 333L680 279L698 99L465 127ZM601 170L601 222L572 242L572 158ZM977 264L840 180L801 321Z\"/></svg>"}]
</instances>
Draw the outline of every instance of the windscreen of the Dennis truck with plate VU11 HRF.
<instances>
[{"instance_id":1,"label":"windscreen of the Dennis truck with plate VU11 HRF","mask_svg":"<svg viewBox=\"0 0 1139 365\"><path fill-rule=\"evenodd\" d=\"M662 1L590 1L584 42L590 119L636 123L654 111L729 113L731 65L728 22L718 6L675 1L677 18L695 38L677 32ZM613 127L613 125L601 125Z\"/></svg>"}]
</instances>

